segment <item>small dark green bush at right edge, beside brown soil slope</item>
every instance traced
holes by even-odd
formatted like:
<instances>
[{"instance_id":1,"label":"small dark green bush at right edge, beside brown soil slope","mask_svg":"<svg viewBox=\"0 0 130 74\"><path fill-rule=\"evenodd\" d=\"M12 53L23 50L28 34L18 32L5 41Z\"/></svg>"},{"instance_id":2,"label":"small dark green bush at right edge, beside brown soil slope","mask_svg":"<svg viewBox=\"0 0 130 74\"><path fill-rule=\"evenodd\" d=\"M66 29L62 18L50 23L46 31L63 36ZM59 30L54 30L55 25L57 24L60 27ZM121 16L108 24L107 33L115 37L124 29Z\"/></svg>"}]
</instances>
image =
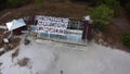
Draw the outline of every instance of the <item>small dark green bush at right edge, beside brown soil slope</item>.
<instances>
[{"instance_id":1,"label":"small dark green bush at right edge, beside brown soil slope","mask_svg":"<svg viewBox=\"0 0 130 74\"><path fill-rule=\"evenodd\" d=\"M130 34L122 34L121 41L122 41L122 45L130 48Z\"/></svg>"}]
</instances>

